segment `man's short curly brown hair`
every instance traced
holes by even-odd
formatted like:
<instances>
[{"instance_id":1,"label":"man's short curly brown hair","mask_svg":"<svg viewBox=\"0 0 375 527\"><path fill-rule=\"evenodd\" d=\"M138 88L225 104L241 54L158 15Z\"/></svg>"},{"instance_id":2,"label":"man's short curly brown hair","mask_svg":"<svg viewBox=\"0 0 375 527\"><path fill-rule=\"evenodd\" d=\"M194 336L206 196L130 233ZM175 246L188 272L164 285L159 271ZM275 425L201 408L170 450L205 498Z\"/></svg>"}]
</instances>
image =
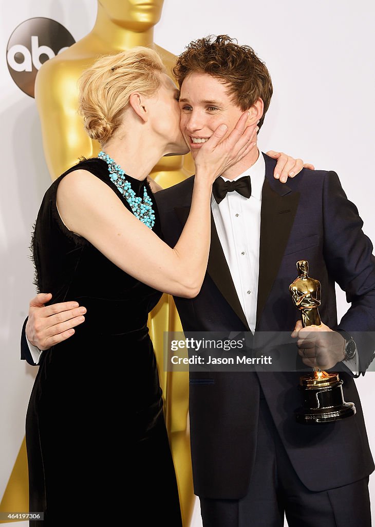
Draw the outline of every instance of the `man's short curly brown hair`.
<instances>
[{"instance_id":1,"label":"man's short curly brown hair","mask_svg":"<svg viewBox=\"0 0 375 527\"><path fill-rule=\"evenodd\" d=\"M177 58L173 73L181 87L190 73L207 73L228 85L228 94L244 112L260 98L264 104L259 129L271 102L272 82L265 63L250 46L228 35L208 35L190 42Z\"/></svg>"}]
</instances>

